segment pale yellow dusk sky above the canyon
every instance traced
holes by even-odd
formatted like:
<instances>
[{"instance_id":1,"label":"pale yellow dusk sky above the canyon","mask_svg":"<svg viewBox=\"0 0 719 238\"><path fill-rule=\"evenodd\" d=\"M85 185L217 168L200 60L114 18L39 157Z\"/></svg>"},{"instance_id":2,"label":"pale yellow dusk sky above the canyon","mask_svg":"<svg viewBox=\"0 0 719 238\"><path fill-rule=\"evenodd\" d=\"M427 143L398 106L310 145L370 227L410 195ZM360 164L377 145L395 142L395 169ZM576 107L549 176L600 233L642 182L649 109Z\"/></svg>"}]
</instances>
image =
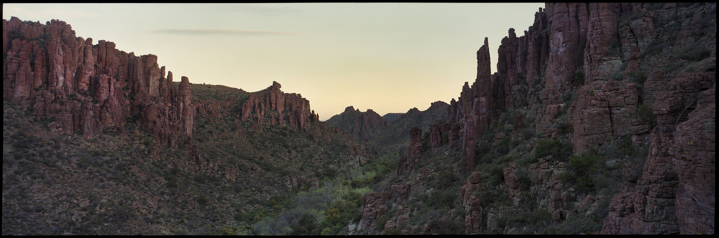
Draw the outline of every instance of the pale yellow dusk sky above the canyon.
<instances>
[{"instance_id":1,"label":"pale yellow dusk sky above the canyon","mask_svg":"<svg viewBox=\"0 0 719 238\"><path fill-rule=\"evenodd\" d=\"M488 37L493 73L508 29L543 3L3 4L3 19L59 19L85 39L157 55L175 81L254 92L277 81L320 120L457 99Z\"/></svg>"}]
</instances>

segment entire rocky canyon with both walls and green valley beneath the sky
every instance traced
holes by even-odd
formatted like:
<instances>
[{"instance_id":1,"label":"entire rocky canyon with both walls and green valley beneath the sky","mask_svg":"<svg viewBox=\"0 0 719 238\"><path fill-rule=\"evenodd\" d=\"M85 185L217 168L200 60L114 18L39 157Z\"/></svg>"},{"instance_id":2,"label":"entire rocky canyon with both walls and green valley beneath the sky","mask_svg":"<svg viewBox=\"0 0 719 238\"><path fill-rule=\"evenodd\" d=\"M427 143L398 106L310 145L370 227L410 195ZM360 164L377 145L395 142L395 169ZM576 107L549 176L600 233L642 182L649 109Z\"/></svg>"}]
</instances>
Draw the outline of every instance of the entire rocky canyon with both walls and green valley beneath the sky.
<instances>
[{"instance_id":1,"label":"entire rocky canyon with both walls and green valley beneath the sky","mask_svg":"<svg viewBox=\"0 0 719 238\"><path fill-rule=\"evenodd\" d=\"M326 122L4 19L3 234L713 234L715 19L547 3L449 104Z\"/></svg>"}]
</instances>

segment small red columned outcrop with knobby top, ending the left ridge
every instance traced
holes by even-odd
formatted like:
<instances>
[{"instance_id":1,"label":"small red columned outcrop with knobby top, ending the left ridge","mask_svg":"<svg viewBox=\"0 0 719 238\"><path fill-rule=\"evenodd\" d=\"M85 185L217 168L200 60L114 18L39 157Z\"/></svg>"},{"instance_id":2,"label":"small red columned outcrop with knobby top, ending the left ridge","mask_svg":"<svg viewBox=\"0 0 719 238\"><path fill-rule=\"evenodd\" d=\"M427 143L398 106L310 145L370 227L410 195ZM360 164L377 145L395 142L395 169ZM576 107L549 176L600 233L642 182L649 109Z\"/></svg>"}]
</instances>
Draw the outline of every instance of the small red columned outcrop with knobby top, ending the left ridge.
<instances>
[{"instance_id":1,"label":"small red columned outcrop with knobby top, ending the left ridge","mask_svg":"<svg viewBox=\"0 0 719 238\"><path fill-rule=\"evenodd\" d=\"M311 123L319 122L319 115L310 110L310 101L298 93L283 93L280 83L252 93L242 104L240 119L257 124L288 125L307 132Z\"/></svg>"}]
</instances>

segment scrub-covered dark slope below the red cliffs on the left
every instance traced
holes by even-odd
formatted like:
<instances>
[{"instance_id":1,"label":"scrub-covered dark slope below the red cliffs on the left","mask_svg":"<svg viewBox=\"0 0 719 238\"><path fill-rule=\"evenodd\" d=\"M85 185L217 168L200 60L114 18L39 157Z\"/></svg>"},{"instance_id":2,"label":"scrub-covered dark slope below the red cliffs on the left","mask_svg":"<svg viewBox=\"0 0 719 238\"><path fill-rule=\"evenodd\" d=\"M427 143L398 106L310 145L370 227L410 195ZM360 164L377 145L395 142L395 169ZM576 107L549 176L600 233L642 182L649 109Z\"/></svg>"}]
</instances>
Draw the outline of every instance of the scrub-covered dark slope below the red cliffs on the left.
<instances>
[{"instance_id":1,"label":"scrub-covered dark slope below the red cliffs on the left","mask_svg":"<svg viewBox=\"0 0 719 238\"><path fill-rule=\"evenodd\" d=\"M193 103L232 96L241 105L249 95L192 87ZM344 135L316 142L222 113L196 116L195 157L192 148L156 145L132 120L127 137L86 139L50 132L52 119L34 119L31 107L4 100L3 108L3 234L213 234L282 211L275 202L357 168L363 150Z\"/></svg>"}]
</instances>

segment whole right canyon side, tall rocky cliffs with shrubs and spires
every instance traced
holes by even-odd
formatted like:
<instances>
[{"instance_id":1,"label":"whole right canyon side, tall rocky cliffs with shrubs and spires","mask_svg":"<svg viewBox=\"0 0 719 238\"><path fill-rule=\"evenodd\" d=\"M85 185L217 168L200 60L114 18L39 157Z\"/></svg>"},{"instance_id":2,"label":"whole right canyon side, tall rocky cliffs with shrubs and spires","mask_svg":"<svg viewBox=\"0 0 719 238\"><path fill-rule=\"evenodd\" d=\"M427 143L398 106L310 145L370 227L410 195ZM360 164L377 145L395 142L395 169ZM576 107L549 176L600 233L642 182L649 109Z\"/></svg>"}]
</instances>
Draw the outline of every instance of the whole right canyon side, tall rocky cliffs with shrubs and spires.
<instances>
[{"instance_id":1,"label":"whole right canyon side, tall rocky cliffs with shrubs and spires","mask_svg":"<svg viewBox=\"0 0 719 238\"><path fill-rule=\"evenodd\" d=\"M512 216L536 211L552 224L602 216L592 233L712 234L715 16L716 4L546 4L523 36L509 29L491 75L485 38L477 78L452 99L446 121L430 124L428 145L407 147L398 176L419 183L430 168L410 165L452 164L456 155L450 173L501 177L457 188L466 233L519 234L527 220ZM601 162L580 169L590 160ZM502 191L510 208L487 203L495 196L487 189Z\"/></svg>"}]
</instances>

